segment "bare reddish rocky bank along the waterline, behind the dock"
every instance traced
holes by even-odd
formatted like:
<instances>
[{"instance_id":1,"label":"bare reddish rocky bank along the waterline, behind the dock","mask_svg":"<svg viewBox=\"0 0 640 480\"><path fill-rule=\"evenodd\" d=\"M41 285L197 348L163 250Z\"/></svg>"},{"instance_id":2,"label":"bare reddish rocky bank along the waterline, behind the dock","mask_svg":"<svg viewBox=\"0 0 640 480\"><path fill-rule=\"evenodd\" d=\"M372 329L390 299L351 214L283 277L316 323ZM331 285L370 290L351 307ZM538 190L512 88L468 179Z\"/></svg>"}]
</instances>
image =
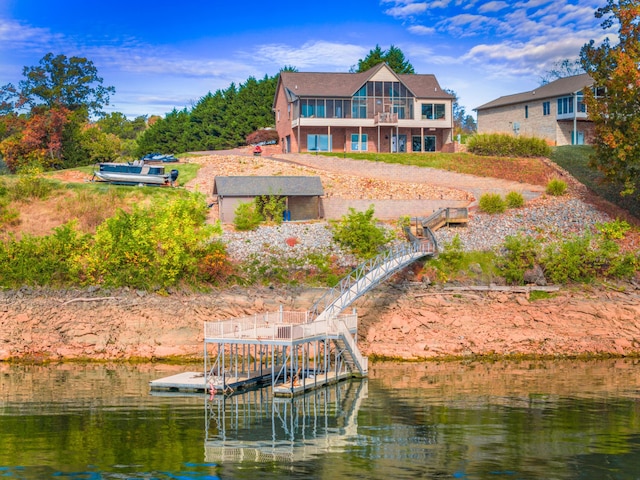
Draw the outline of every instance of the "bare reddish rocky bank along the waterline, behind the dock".
<instances>
[{"instance_id":1,"label":"bare reddish rocky bank along the waterline, behind the dock","mask_svg":"<svg viewBox=\"0 0 640 480\"><path fill-rule=\"evenodd\" d=\"M200 360L203 322L305 310L313 288L229 288L160 296L138 291L0 293L0 360ZM399 280L361 297L366 355L406 360L486 356L637 356L640 288L447 290Z\"/></svg>"}]
</instances>

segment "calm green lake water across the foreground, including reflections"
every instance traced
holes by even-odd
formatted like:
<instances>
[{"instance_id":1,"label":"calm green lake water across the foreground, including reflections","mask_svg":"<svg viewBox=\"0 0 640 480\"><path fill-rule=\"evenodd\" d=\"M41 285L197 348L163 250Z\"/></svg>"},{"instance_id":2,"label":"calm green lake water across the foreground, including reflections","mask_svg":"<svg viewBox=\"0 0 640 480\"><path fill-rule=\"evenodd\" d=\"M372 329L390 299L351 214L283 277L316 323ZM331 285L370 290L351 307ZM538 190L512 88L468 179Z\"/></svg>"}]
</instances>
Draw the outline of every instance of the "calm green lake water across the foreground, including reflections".
<instances>
[{"instance_id":1,"label":"calm green lake water across the foreground, including reflections","mask_svg":"<svg viewBox=\"0 0 640 480\"><path fill-rule=\"evenodd\" d=\"M195 367L197 368L197 367ZM374 363L295 399L0 364L0 478L640 479L640 361Z\"/></svg>"}]
</instances>

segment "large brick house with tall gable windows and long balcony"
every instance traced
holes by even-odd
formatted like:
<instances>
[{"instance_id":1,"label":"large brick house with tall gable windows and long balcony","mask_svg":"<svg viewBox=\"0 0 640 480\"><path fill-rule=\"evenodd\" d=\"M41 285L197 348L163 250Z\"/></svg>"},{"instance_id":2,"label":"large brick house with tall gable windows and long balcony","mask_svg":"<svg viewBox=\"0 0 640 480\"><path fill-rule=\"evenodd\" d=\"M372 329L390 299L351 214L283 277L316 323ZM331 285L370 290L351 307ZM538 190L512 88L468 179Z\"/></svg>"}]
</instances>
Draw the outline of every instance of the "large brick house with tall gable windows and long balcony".
<instances>
[{"instance_id":1,"label":"large brick house with tall gable windows and long balcony","mask_svg":"<svg viewBox=\"0 0 640 480\"><path fill-rule=\"evenodd\" d=\"M453 150L453 97L433 75L280 72L273 103L284 153Z\"/></svg>"}]
</instances>

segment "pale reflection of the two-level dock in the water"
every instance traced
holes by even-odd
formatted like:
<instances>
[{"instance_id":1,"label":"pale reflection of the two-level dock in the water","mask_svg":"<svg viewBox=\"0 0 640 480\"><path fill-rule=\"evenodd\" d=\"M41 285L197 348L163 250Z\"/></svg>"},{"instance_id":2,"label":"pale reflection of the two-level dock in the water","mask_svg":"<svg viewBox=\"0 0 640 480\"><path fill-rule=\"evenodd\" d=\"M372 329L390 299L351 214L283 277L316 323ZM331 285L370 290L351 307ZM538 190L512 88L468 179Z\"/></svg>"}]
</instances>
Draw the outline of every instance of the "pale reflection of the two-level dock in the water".
<instances>
[{"instance_id":1,"label":"pale reflection of the two-level dock in the water","mask_svg":"<svg viewBox=\"0 0 640 480\"><path fill-rule=\"evenodd\" d=\"M299 462L353 444L366 379L304 395L275 397L269 388L206 404L205 461Z\"/></svg>"}]
</instances>

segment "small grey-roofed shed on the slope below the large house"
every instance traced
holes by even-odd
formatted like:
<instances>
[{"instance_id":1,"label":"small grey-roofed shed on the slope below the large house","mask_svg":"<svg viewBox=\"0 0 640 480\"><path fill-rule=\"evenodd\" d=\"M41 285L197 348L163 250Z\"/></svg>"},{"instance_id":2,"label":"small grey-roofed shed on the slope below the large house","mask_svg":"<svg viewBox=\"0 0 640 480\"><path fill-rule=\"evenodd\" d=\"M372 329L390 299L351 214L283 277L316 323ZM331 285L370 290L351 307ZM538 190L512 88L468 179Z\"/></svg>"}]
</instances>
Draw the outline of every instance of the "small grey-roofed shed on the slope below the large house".
<instances>
[{"instance_id":1,"label":"small grey-roofed shed on the slope below the large house","mask_svg":"<svg viewBox=\"0 0 640 480\"><path fill-rule=\"evenodd\" d=\"M213 195L218 199L220 221L232 223L241 203L260 195L286 197L287 220L314 220L321 217L320 197L324 195L320 177L215 177Z\"/></svg>"}]
</instances>

